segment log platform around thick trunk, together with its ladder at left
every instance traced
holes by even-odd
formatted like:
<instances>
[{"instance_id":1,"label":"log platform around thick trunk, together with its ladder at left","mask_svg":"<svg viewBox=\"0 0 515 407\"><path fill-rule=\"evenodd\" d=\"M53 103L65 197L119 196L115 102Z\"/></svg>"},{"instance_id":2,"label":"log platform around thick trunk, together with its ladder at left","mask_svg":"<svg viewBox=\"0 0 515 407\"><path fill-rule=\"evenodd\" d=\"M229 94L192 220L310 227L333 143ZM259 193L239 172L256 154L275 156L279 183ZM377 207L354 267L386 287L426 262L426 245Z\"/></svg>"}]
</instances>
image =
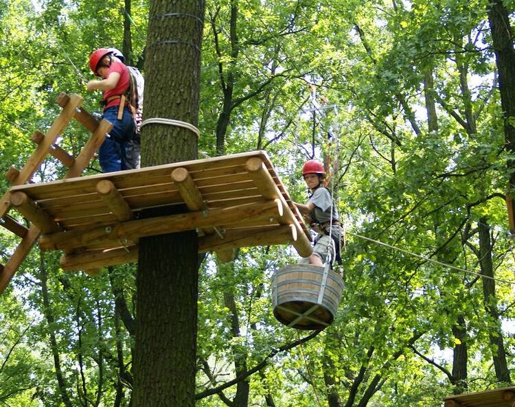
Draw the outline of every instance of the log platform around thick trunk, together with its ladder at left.
<instances>
[{"instance_id":1,"label":"log platform around thick trunk, together with its ladder at left","mask_svg":"<svg viewBox=\"0 0 515 407\"><path fill-rule=\"evenodd\" d=\"M310 234L265 152L80 177L111 124L99 124L78 108L80 97L63 98L58 126L36 135L39 144L28 168L10 172L13 186L1 201L3 226L23 240L1 271L0 293L40 234L43 250L65 252L64 270L89 274L137 261L141 237L191 229L198 231L199 251L216 251L222 261L235 248L288 242L303 257L312 253ZM74 117L81 123L87 118L93 131L76 159L53 146ZM65 179L26 184L47 154L69 167ZM31 222L30 229L7 215L10 207ZM156 207L174 214L148 218L146 210Z\"/></svg>"}]
</instances>

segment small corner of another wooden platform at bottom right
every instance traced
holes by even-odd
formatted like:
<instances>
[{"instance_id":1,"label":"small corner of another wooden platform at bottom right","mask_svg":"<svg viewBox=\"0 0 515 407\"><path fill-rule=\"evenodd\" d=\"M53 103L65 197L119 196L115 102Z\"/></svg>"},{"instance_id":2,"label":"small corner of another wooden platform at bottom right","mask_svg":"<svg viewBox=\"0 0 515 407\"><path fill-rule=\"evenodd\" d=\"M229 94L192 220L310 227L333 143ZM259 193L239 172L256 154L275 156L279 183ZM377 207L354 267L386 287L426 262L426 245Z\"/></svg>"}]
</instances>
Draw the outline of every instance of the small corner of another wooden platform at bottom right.
<instances>
[{"instance_id":1,"label":"small corner of another wooden platform at bottom right","mask_svg":"<svg viewBox=\"0 0 515 407\"><path fill-rule=\"evenodd\" d=\"M515 386L449 396L444 407L515 407Z\"/></svg>"}]
</instances>

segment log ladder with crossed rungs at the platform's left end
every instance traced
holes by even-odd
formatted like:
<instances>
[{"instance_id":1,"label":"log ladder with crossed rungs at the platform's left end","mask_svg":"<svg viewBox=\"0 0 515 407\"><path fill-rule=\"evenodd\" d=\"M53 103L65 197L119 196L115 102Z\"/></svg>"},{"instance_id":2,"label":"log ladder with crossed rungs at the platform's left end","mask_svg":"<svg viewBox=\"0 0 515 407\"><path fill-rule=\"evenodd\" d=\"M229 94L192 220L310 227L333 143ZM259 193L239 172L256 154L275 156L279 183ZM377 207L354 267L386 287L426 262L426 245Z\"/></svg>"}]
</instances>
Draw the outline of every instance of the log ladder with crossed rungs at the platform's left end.
<instances>
[{"instance_id":1,"label":"log ladder with crossed rungs at the platform's left end","mask_svg":"<svg viewBox=\"0 0 515 407\"><path fill-rule=\"evenodd\" d=\"M82 97L79 95L72 94L69 96L66 93L60 93L56 103L62 107L62 111L54 121L54 124L52 124L46 134L36 131L31 137L32 141L37 144L36 150L32 153L21 170L10 167L7 174L5 174L12 186L23 185L29 182L34 172L38 170L49 154L68 168L64 178L80 176L82 170L87 167L93 158L93 154L95 154L104 142L106 133L113 128L113 124L111 124L110 121L104 119L98 121L93 115L85 111L84 108L80 106L82 104ZM57 138L62 135L62 132L64 132L72 119L78 120L92 133L91 137L76 157L71 156L68 152L56 145ZM11 209L10 198L10 192L7 191L0 199L0 226L14 233L14 235L21 237L21 242L14 250L10 259L8 259L5 264L0 264L0 294L8 286L12 276L25 257L27 257L41 233L41 230L34 226L34 224L27 228L9 216L8 213ZM41 213L43 213L43 211L41 211ZM56 232L59 230L60 226L54 222L53 224L49 224L48 228L49 230L43 232ZM87 271L91 274L94 273L94 270Z\"/></svg>"}]
</instances>

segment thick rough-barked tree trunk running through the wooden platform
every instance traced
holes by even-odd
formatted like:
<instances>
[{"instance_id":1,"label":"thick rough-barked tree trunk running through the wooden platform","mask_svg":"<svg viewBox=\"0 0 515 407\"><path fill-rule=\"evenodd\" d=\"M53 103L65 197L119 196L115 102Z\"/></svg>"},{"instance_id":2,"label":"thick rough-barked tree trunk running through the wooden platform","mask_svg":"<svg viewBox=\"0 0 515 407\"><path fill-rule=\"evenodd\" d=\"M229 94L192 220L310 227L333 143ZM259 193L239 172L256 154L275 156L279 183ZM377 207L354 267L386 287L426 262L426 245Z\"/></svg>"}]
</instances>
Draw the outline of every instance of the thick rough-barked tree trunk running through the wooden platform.
<instances>
[{"instance_id":1,"label":"thick rough-barked tree trunk running through the wooden platform","mask_svg":"<svg viewBox=\"0 0 515 407\"><path fill-rule=\"evenodd\" d=\"M150 1L144 119L198 124L204 9L202 0ZM190 130L162 124L142 129L143 166L196 159L196 154ZM139 246L133 406L194 407L196 231L146 237Z\"/></svg>"}]
</instances>

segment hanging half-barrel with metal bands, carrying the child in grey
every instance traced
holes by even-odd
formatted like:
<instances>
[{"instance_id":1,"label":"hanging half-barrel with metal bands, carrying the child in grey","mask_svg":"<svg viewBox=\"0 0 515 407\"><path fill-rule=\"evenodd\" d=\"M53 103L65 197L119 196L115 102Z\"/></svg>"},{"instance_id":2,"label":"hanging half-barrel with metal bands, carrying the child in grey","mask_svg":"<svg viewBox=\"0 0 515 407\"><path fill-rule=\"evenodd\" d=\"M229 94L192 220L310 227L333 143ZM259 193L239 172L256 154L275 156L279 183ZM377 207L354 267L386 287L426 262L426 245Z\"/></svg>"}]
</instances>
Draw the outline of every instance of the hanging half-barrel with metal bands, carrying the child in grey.
<instances>
[{"instance_id":1,"label":"hanging half-barrel with metal bands, carrying the child in grey","mask_svg":"<svg viewBox=\"0 0 515 407\"><path fill-rule=\"evenodd\" d=\"M312 264L291 264L272 277L275 318L288 327L321 329L330 325L343 293L343 279Z\"/></svg>"}]
</instances>

